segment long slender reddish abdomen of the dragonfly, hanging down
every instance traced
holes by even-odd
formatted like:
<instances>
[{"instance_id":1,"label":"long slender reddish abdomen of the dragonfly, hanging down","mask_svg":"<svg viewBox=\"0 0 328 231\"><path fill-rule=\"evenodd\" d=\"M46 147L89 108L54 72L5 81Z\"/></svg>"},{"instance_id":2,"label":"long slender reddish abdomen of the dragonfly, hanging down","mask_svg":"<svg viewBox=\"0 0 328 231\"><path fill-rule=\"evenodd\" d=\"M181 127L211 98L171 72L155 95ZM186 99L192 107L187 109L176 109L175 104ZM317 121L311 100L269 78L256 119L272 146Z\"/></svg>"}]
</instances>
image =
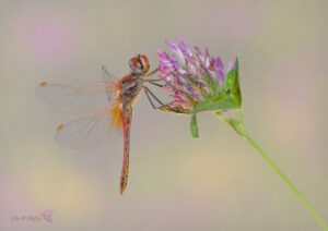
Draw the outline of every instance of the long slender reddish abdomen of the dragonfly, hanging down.
<instances>
[{"instance_id":1,"label":"long slender reddish abdomen of the dragonfly, hanging down","mask_svg":"<svg viewBox=\"0 0 328 231\"><path fill-rule=\"evenodd\" d=\"M132 108L126 107L122 109L122 126L124 126L124 160L120 173L120 194L122 194L127 187L128 174L129 174L129 150L130 150L130 126L132 120Z\"/></svg>"}]
</instances>

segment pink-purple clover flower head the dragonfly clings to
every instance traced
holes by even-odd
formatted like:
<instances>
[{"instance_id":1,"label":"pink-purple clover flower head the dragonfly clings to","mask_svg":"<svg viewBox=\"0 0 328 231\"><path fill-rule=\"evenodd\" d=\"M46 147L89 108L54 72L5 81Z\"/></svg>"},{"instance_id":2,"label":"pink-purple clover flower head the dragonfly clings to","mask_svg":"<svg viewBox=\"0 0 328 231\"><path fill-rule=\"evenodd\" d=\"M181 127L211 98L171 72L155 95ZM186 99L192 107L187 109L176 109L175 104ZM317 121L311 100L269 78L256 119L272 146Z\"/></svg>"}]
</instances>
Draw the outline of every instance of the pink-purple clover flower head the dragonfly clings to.
<instances>
[{"instance_id":1,"label":"pink-purple clover flower head the dragonfly clings to","mask_svg":"<svg viewBox=\"0 0 328 231\"><path fill-rule=\"evenodd\" d=\"M160 80L165 82L174 101L162 110L196 113L209 109L208 106L219 106L227 90L227 75L237 68L237 63L230 62L225 69L220 57L211 56L208 49L202 52L199 47L192 51L183 39L165 44L172 53L157 50Z\"/></svg>"}]
</instances>

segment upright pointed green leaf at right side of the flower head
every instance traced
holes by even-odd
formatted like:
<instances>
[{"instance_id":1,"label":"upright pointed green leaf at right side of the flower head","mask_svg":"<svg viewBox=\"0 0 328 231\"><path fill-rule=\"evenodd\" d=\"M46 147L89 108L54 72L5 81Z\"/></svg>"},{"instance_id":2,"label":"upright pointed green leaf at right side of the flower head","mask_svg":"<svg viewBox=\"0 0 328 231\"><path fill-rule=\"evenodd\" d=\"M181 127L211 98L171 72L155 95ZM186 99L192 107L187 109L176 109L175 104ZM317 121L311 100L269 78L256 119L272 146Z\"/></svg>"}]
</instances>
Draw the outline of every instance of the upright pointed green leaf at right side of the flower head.
<instances>
[{"instance_id":1,"label":"upright pointed green leaf at right side of the flower head","mask_svg":"<svg viewBox=\"0 0 328 231\"><path fill-rule=\"evenodd\" d=\"M239 63L238 59L235 60L234 69L227 74L224 82L225 94L229 95L238 106L242 106L242 93L239 86Z\"/></svg>"}]
</instances>

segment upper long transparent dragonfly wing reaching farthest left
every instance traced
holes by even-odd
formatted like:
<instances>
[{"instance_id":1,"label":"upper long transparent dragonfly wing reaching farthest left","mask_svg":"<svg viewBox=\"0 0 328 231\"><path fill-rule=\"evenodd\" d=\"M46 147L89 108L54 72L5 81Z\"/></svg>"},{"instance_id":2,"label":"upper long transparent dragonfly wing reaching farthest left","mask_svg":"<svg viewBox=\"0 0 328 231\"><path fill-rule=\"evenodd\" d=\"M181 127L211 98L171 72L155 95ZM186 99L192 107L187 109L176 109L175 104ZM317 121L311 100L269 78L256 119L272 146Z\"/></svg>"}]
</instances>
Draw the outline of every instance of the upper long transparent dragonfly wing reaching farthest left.
<instances>
[{"instance_id":1,"label":"upper long transparent dragonfly wing reaching farthest left","mask_svg":"<svg viewBox=\"0 0 328 231\"><path fill-rule=\"evenodd\" d=\"M51 84L43 82L35 95L45 104L70 114L80 114L104 108L113 98L113 82L103 82L84 86Z\"/></svg>"}]
</instances>

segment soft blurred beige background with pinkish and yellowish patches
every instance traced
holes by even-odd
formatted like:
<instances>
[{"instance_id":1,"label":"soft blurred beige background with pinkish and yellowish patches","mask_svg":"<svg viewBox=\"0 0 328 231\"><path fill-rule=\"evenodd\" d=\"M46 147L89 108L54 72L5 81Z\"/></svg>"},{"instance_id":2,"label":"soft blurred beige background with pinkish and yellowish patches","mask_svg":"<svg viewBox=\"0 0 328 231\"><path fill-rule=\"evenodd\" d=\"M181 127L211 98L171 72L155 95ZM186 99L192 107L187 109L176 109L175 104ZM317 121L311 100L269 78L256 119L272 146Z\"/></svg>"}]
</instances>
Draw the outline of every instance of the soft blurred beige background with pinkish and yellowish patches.
<instances>
[{"instance_id":1,"label":"soft blurred beige background with pinkish and yellowish patches","mask_svg":"<svg viewBox=\"0 0 328 231\"><path fill-rule=\"evenodd\" d=\"M328 220L328 2L0 1L0 230L320 230L280 178L212 114L134 105L130 175L118 194L121 139L70 150L72 118L35 97L42 81L120 76L137 52L178 37L239 58L246 125ZM13 222L52 209L52 223Z\"/></svg>"}]
</instances>

